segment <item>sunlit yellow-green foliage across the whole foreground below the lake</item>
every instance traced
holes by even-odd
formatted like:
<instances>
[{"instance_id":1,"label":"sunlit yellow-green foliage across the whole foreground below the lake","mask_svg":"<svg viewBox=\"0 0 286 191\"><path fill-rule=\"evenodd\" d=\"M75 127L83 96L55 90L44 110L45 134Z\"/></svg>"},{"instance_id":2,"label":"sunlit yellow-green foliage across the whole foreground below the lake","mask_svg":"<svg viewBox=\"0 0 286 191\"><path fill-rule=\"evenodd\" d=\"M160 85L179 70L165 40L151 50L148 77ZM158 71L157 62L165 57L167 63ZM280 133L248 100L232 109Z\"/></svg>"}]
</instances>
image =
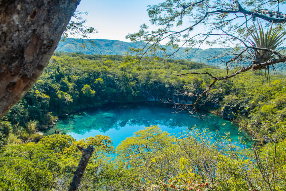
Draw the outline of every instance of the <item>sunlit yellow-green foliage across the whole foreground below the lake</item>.
<instances>
[{"instance_id":1,"label":"sunlit yellow-green foliage across the whole foreground below the lake","mask_svg":"<svg viewBox=\"0 0 286 191\"><path fill-rule=\"evenodd\" d=\"M67 143L63 152L54 146L63 141L56 140ZM6 146L0 152L1 183L8 179L17 188L66 189L81 157L77 144L95 146L81 182L82 190L268 189L251 148L233 145L228 133L219 137L194 127L173 136L158 126L146 127L122 141L114 160L107 156L114 151L112 141L103 135L75 141L57 134L43 137L39 143ZM271 166L275 160L275 188L284 190L285 141L268 143L261 149L263 165Z\"/></svg>"}]
</instances>

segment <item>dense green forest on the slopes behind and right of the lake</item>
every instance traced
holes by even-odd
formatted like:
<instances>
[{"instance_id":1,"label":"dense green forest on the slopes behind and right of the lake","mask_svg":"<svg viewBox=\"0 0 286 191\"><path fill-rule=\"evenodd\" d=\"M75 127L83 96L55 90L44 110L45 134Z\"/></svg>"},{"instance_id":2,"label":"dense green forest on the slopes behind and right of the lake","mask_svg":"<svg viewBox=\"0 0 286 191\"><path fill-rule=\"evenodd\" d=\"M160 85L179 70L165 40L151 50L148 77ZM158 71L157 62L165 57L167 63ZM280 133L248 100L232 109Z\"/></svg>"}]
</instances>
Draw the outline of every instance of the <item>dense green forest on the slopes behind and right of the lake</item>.
<instances>
[{"instance_id":1,"label":"dense green forest on the slopes behind and right of the lake","mask_svg":"<svg viewBox=\"0 0 286 191\"><path fill-rule=\"evenodd\" d=\"M186 60L160 62L162 58L142 60L139 64L126 61L121 55L84 55L82 53L55 53L43 74L25 97L2 119L17 129L17 136L29 139L36 129L45 129L54 116L63 115L87 107L106 103L173 100L177 103L192 103L196 97L183 92L199 94L204 85L211 82L209 76L176 76L189 71L211 72L222 75L225 70ZM203 99L200 109L221 113L233 119L233 113L248 115L247 107L276 113L285 107L284 76L247 73L232 81L217 83ZM260 84L264 84L261 86ZM266 93L267 92L267 93ZM181 94L175 96L175 94ZM249 105L251 101L261 105ZM161 102L161 101L160 101ZM271 103L275 103L274 105ZM278 111L277 111L278 110ZM232 113L233 112L233 113ZM284 112L284 110L283 110ZM284 115L284 114L283 114ZM6 123L6 122L5 122ZM32 127L33 126L33 127ZM21 128L19 128L21 127ZM2 127L3 136L9 134ZM34 130L28 130L34 128ZM19 129L22 129L19 131ZM26 130L25 130L26 129ZM5 132L4 132L5 131ZM36 138L39 135L33 135ZM285 136L284 133L281 136ZM7 139L2 139L4 142Z\"/></svg>"}]
</instances>

